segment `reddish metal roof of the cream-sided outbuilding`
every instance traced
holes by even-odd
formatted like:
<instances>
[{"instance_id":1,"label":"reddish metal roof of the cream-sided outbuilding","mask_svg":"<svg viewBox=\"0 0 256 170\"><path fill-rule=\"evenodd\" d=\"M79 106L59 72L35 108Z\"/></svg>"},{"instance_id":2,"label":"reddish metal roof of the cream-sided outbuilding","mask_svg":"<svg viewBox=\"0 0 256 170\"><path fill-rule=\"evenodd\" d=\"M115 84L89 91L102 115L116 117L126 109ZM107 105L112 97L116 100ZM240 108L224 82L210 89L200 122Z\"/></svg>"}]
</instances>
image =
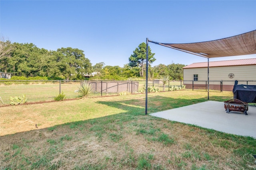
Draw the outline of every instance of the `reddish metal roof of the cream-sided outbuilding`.
<instances>
[{"instance_id":1,"label":"reddish metal roof of the cream-sided outbuilding","mask_svg":"<svg viewBox=\"0 0 256 170\"><path fill-rule=\"evenodd\" d=\"M226 60L226 61L211 61L209 62L209 67L219 67L219 66L240 66L240 65L256 65L255 59L241 59L241 60ZM183 68L200 68L208 67L208 62L203 63L193 63Z\"/></svg>"}]
</instances>

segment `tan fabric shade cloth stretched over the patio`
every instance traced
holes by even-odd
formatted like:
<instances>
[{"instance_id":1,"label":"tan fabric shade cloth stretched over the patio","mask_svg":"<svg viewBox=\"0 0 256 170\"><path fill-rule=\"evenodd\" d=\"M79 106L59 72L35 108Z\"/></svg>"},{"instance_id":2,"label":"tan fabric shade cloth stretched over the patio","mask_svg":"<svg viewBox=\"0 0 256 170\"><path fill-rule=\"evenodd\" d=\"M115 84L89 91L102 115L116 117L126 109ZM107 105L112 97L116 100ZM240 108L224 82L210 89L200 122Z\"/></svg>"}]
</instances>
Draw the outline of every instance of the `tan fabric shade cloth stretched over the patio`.
<instances>
[{"instance_id":1,"label":"tan fabric shade cloth stretched over the patio","mask_svg":"<svg viewBox=\"0 0 256 170\"><path fill-rule=\"evenodd\" d=\"M256 30L233 37L201 43L162 44L198 53L207 58L250 55L256 54Z\"/></svg>"}]
</instances>

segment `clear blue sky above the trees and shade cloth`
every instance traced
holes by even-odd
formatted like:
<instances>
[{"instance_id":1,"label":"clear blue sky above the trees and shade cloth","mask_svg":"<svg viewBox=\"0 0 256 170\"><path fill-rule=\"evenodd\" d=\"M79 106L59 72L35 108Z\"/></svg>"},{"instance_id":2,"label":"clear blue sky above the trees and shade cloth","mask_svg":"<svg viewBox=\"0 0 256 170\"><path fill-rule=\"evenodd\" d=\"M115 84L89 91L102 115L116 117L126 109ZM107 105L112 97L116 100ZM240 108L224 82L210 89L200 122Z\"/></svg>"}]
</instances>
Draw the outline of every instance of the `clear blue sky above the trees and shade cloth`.
<instances>
[{"instance_id":1,"label":"clear blue sky above the trees and shade cloth","mask_svg":"<svg viewBox=\"0 0 256 170\"><path fill-rule=\"evenodd\" d=\"M84 51L92 65L129 63L146 38L196 43L256 29L256 0L0 0L0 33L12 43ZM204 57L148 44L158 64L207 62ZM256 55L210 61L250 59Z\"/></svg>"}]
</instances>

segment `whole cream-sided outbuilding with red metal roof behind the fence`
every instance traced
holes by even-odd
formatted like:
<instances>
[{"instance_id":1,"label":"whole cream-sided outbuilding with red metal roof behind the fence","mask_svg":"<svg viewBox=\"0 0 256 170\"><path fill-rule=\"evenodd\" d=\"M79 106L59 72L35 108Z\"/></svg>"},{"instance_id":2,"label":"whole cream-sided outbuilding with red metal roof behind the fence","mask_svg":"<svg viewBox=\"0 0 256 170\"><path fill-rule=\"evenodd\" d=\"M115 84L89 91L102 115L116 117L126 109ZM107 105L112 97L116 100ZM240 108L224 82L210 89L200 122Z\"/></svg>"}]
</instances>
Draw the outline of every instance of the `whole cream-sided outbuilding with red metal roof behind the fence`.
<instances>
[{"instance_id":1,"label":"whole cream-sided outbuilding with red metal roof behind the fence","mask_svg":"<svg viewBox=\"0 0 256 170\"><path fill-rule=\"evenodd\" d=\"M193 63L183 67L183 80L188 89L206 89L208 80L208 62ZM232 91L234 81L238 84L256 84L256 58L209 62L210 89Z\"/></svg>"}]
</instances>

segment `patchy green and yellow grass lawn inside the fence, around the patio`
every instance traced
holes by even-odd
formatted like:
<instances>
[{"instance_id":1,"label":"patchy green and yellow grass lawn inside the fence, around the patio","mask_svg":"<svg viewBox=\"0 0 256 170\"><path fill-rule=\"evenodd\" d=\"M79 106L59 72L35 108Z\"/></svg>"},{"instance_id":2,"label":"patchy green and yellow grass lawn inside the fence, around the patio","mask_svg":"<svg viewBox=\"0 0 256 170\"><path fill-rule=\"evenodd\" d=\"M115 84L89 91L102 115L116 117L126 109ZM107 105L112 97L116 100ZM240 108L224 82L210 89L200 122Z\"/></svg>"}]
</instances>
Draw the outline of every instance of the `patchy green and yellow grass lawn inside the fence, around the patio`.
<instances>
[{"instance_id":1,"label":"patchy green and yellow grass lawn inside the fence, around the patio","mask_svg":"<svg viewBox=\"0 0 256 170\"><path fill-rule=\"evenodd\" d=\"M232 97L210 92L214 101ZM148 113L204 101L203 91L149 93ZM144 106L136 94L0 107L0 168L256 168L255 139L145 115Z\"/></svg>"}]
</instances>

